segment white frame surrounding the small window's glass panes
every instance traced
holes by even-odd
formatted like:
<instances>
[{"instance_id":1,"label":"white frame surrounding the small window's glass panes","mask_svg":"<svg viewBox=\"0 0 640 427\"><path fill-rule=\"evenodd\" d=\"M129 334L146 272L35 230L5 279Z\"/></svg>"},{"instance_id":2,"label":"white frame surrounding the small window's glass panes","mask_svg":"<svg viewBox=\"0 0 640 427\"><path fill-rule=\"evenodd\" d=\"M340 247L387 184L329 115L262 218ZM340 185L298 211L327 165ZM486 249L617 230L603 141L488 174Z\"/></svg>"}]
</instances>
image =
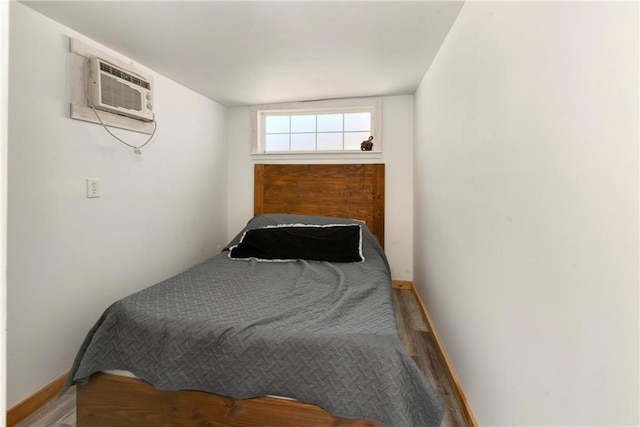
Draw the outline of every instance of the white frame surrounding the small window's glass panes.
<instances>
[{"instance_id":1,"label":"white frame surrounding the small window's glass panes","mask_svg":"<svg viewBox=\"0 0 640 427\"><path fill-rule=\"evenodd\" d=\"M264 144L265 116L271 114L327 114L371 112L373 149L335 151L273 151L266 152ZM258 105L251 108L251 156L254 159L292 158L382 158L382 98L352 98L324 101L292 102L284 104Z\"/></svg>"}]
</instances>

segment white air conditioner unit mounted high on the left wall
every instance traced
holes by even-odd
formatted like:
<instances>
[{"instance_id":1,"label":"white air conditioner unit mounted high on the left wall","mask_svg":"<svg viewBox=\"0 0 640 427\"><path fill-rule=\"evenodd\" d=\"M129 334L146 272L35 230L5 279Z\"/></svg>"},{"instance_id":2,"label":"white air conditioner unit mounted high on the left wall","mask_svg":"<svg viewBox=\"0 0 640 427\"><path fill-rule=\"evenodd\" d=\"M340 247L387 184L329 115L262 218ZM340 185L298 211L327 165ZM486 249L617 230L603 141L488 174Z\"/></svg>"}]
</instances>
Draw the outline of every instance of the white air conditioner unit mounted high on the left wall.
<instances>
[{"instance_id":1,"label":"white air conditioner unit mounted high on the left wall","mask_svg":"<svg viewBox=\"0 0 640 427\"><path fill-rule=\"evenodd\" d=\"M88 78L90 106L134 119L153 120L151 81L100 58L89 60Z\"/></svg>"}]
</instances>

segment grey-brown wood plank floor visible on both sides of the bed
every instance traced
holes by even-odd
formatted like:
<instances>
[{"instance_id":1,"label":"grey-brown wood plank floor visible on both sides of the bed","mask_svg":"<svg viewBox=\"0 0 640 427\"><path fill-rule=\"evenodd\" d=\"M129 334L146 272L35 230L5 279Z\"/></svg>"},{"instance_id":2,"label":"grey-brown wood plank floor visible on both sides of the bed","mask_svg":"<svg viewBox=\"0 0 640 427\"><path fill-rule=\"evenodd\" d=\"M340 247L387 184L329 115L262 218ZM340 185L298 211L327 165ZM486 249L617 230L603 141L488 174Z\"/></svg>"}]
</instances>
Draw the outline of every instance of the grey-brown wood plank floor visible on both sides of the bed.
<instances>
[{"instance_id":1,"label":"grey-brown wood plank floor visible on both sides of the bed","mask_svg":"<svg viewBox=\"0 0 640 427\"><path fill-rule=\"evenodd\" d=\"M429 378L442 397L445 416L442 426L467 425L457 402L451 384L447 380L444 364L440 360L431 333L422 320L418 303L410 290L394 289L393 304L400 337L416 364ZM64 396L57 398L17 426L19 427L75 427L76 394L75 387Z\"/></svg>"}]
</instances>

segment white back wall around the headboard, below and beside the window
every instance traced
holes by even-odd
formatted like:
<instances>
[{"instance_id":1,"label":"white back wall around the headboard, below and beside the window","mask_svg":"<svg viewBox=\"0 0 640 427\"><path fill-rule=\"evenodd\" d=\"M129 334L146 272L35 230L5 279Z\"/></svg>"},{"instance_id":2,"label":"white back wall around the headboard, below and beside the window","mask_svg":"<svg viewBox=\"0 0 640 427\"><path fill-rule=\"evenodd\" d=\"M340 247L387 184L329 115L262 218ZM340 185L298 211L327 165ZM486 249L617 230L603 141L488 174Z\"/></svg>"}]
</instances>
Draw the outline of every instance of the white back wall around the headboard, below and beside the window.
<instances>
[{"instance_id":1,"label":"white back wall around the headboard, below and beside the window","mask_svg":"<svg viewBox=\"0 0 640 427\"><path fill-rule=\"evenodd\" d=\"M385 251L394 279L411 280L413 198L413 96L388 96L382 106L381 159L331 159L255 163L385 163ZM249 107L230 108L229 238L253 216L253 165Z\"/></svg>"}]
</instances>

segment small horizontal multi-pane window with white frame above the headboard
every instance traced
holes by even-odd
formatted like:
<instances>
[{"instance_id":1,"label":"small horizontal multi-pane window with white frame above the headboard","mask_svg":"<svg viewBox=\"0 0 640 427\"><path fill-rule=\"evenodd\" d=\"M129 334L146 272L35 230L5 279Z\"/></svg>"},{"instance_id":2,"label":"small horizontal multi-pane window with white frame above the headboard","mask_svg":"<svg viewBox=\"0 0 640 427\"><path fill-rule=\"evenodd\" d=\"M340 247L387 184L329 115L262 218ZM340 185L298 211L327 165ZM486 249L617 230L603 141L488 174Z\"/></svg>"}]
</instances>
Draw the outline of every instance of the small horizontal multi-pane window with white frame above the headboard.
<instances>
[{"instance_id":1,"label":"small horizontal multi-pane window with white frame above the headboard","mask_svg":"<svg viewBox=\"0 0 640 427\"><path fill-rule=\"evenodd\" d=\"M253 154L381 153L380 99L299 102L253 109ZM373 149L361 144L373 136Z\"/></svg>"}]
</instances>

